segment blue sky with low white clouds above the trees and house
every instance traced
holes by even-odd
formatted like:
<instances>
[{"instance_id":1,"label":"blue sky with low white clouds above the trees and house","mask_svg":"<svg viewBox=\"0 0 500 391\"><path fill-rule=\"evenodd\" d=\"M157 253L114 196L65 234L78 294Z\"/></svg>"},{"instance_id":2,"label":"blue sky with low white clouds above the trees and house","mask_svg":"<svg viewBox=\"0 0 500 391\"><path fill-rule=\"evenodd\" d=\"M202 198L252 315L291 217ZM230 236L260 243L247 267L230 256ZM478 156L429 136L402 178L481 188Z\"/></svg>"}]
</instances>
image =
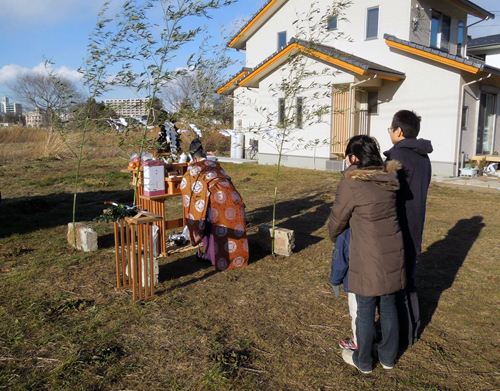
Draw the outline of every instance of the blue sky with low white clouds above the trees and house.
<instances>
[{"instance_id":1,"label":"blue sky with low white clouds above the trees and house","mask_svg":"<svg viewBox=\"0 0 500 391\"><path fill-rule=\"evenodd\" d=\"M115 0L116 2L117 0ZM355 0L354 0L355 1ZM239 0L236 4L218 10L207 24L208 30L217 35L219 27L231 28L242 18L254 14L267 0ZM495 20L473 26L469 35L473 38L500 34L500 1L475 0L477 5L496 13ZM77 69L82 65L88 36L97 20L102 0L0 0L0 96L9 96L6 86L20 72L43 70L44 58L50 59L55 71L77 81ZM469 24L477 21L471 18ZM197 46L186 47L179 53L175 66L183 66L185 59L196 51ZM243 55L234 52L236 58ZM229 75L237 69L228 70ZM107 98L131 98L116 96Z\"/></svg>"}]
</instances>

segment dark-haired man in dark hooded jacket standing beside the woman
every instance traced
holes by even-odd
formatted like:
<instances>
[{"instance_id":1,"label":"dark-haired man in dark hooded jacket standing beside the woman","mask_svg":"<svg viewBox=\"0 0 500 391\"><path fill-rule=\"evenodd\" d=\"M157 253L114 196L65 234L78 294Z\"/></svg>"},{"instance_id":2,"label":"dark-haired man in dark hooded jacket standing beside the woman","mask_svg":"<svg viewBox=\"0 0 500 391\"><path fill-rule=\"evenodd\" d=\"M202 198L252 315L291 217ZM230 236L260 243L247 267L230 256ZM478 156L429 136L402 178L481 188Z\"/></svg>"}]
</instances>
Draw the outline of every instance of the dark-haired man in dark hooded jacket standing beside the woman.
<instances>
[{"instance_id":1,"label":"dark-haired man in dark hooded jacket standing beside the woman","mask_svg":"<svg viewBox=\"0 0 500 391\"><path fill-rule=\"evenodd\" d=\"M387 160L399 161L400 189L396 193L397 214L405 247L407 286L397 296L400 347L407 349L419 337L420 312L418 308L416 271L417 257L422 252L422 233L425 222L427 191L431 181L432 152L429 140L417 139L420 120L413 111L400 110L388 129L394 146L384 152Z\"/></svg>"}]
</instances>

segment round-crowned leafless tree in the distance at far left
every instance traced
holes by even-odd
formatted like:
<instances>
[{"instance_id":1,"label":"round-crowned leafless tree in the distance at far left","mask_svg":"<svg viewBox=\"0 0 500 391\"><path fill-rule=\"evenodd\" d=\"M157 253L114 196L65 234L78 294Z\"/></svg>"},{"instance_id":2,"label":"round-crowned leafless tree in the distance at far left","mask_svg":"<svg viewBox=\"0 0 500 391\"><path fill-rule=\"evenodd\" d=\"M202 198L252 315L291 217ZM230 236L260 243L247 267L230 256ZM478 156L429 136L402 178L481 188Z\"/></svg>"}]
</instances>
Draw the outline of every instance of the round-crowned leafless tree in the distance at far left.
<instances>
[{"instance_id":1,"label":"round-crowned leafless tree in the distance at far left","mask_svg":"<svg viewBox=\"0 0 500 391\"><path fill-rule=\"evenodd\" d=\"M81 100L75 84L54 73L24 73L8 87L16 100L28 108L39 109L51 119Z\"/></svg>"}]
</instances>

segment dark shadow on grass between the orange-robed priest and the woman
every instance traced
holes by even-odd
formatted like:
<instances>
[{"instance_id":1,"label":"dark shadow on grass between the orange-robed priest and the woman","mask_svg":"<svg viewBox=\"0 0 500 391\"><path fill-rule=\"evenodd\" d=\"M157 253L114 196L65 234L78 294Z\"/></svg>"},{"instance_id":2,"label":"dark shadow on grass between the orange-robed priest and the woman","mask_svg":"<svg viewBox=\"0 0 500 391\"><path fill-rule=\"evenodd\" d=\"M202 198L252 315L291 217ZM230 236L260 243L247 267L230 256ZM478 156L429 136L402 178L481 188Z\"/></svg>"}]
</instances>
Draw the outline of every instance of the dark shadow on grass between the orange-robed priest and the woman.
<instances>
[{"instance_id":1,"label":"dark shadow on grass between the orange-robed priest and the woman","mask_svg":"<svg viewBox=\"0 0 500 391\"><path fill-rule=\"evenodd\" d=\"M276 205L276 220L280 222L280 228L291 229L295 234L294 252L314 245L322 237L313 235L313 232L323 227L330 216L331 203L325 202L322 193L312 196L292 199L280 202ZM315 208L315 209L314 209ZM314 209L313 211L309 211ZM265 206L248 213L252 224L271 224L273 216L273 206Z\"/></svg>"}]
</instances>

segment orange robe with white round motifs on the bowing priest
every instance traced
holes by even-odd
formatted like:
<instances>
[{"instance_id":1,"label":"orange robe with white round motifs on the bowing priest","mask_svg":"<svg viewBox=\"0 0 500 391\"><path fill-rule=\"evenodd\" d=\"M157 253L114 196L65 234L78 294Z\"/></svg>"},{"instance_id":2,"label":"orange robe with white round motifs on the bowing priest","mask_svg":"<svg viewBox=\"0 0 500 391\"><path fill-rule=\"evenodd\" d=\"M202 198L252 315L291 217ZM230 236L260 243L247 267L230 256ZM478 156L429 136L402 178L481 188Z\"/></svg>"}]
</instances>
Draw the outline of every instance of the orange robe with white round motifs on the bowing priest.
<instances>
[{"instance_id":1,"label":"orange robe with white round motifs on the bowing priest","mask_svg":"<svg viewBox=\"0 0 500 391\"><path fill-rule=\"evenodd\" d=\"M191 243L203 242L203 257L217 271L248 265L245 204L219 163L194 163L180 188Z\"/></svg>"}]
</instances>

